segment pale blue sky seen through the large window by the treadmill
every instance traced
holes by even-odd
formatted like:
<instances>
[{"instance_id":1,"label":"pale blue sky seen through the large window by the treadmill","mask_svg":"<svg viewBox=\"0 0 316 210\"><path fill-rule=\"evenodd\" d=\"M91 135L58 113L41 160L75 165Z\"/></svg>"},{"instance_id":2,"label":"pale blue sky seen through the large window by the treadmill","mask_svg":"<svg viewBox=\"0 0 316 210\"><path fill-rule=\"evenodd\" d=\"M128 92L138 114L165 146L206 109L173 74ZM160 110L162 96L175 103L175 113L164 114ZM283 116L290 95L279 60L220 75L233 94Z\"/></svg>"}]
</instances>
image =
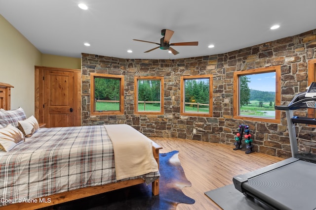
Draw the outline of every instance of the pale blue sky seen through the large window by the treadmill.
<instances>
[{"instance_id":1,"label":"pale blue sky seen through the large window by the treadmill","mask_svg":"<svg viewBox=\"0 0 316 210\"><path fill-rule=\"evenodd\" d=\"M250 78L249 89L276 91L276 72L247 75Z\"/></svg>"}]
</instances>

